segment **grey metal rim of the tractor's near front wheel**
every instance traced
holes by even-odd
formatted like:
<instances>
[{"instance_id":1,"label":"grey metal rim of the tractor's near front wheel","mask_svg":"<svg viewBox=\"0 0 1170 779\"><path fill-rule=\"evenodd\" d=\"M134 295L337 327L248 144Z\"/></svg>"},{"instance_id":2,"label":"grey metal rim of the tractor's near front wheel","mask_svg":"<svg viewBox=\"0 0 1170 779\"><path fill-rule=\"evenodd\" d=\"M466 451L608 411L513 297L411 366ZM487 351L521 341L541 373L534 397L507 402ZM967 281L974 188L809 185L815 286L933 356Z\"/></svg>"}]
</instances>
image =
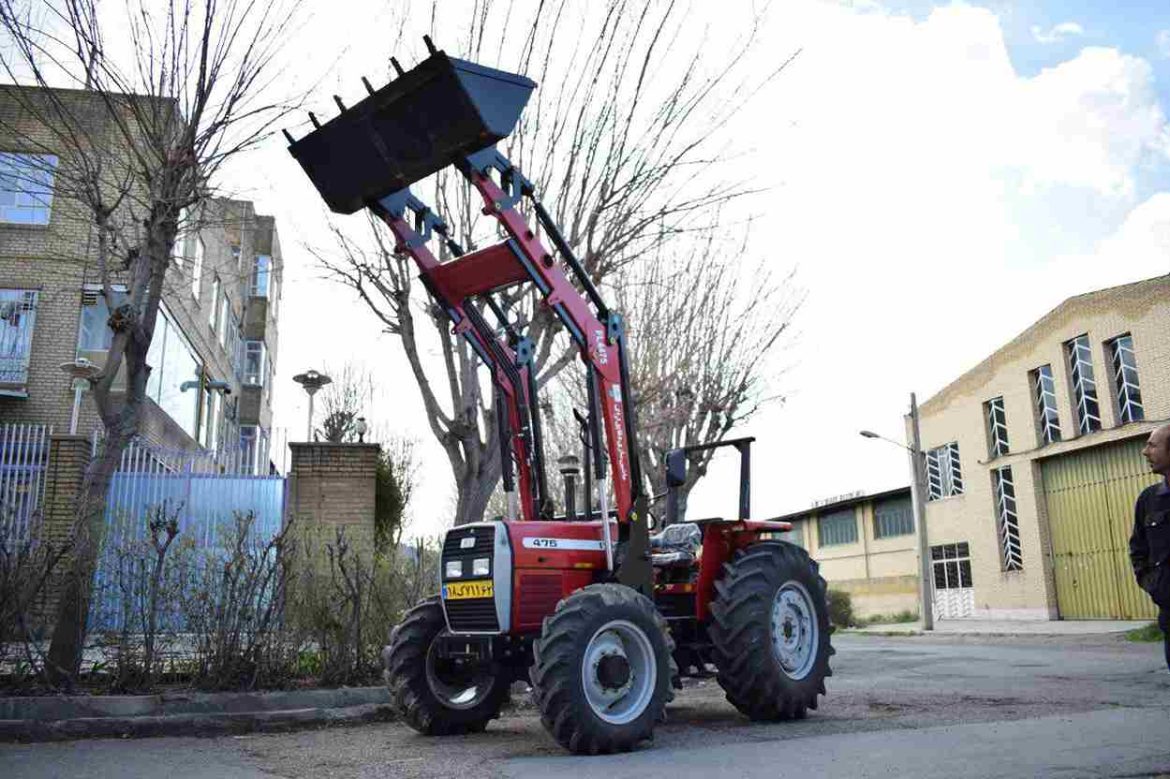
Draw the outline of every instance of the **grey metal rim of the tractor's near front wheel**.
<instances>
[{"instance_id":1,"label":"grey metal rim of the tractor's near front wheel","mask_svg":"<svg viewBox=\"0 0 1170 779\"><path fill-rule=\"evenodd\" d=\"M603 625L585 647L581 687L600 719L624 725L636 719L654 697L658 660L642 628L627 620Z\"/></svg>"}]
</instances>

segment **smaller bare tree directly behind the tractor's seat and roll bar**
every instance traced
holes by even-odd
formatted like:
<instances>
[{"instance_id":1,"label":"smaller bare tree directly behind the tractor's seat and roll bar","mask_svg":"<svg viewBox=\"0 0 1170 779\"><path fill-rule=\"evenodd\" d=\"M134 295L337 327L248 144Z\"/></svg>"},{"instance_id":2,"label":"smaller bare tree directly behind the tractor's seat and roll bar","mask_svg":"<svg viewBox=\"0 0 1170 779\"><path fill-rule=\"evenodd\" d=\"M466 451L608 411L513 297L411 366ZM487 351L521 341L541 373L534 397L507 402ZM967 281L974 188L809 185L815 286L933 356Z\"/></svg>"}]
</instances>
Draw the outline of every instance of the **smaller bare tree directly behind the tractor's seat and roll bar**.
<instances>
[{"instance_id":1,"label":"smaller bare tree directly behind the tractor's seat and roll bar","mask_svg":"<svg viewBox=\"0 0 1170 779\"><path fill-rule=\"evenodd\" d=\"M775 359L790 344L804 294L792 273L775 276L741 246L708 235L682 254L658 253L622 275L631 384L638 404L638 455L651 495L666 490L666 453L722 441L759 408L783 398ZM707 474L714 450L688 456L680 509Z\"/></svg>"}]
</instances>

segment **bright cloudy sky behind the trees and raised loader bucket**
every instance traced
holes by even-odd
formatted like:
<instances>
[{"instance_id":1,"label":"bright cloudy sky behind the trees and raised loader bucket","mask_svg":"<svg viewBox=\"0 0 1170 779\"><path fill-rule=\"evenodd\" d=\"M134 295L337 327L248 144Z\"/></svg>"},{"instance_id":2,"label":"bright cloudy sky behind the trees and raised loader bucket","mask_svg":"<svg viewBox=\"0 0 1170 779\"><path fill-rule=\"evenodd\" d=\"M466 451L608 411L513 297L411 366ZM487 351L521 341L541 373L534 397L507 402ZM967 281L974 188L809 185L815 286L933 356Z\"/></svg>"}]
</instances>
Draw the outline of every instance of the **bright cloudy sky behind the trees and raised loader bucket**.
<instances>
[{"instance_id":1,"label":"bright cloudy sky behind the trees and raised loader bucket","mask_svg":"<svg viewBox=\"0 0 1170 779\"><path fill-rule=\"evenodd\" d=\"M292 66L328 69L322 116L332 91L360 96L360 75L380 83L391 54L424 56L414 41L390 50L393 4L335 8L311 16ZM732 40L703 29L713 48ZM904 451L860 429L901 440L911 392L928 399L1072 295L1170 273L1166 4L787 0L763 35L762 64L799 55L725 143L760 188L743 206L748 251L794 269L807 297L769 367L783 402L737 430L758 439L758 517L908 483ZM370 366L370 416L420 442L411 532L441 531L450 471L402 351L307 250L328 244L319 198L282 143L232 175L283 246L276 425L303 437L292 374ZM731 511L735 497L728 457L691 510Z\"/></svg>"}]
</instances>

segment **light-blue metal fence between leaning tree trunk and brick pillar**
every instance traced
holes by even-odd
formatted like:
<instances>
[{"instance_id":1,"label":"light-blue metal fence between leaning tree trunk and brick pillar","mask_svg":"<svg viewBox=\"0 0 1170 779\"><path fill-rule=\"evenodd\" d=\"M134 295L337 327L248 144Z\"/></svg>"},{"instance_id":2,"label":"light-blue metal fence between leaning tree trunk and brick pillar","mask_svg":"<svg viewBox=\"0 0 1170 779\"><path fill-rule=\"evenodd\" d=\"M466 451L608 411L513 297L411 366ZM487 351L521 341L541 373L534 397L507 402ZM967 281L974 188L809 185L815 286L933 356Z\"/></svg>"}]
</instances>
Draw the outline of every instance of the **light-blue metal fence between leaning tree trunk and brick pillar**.
<instances>
[{"instance_id":1,"label":"light-blue metal fence between leaning tree trunk and brick pillar","mask_svg":"<svg viewBox=\"0 0 1170 779\"><path fill-rule=\"evenodd\" d=\"M173 451L131 443L110 484L106 533L95 579L91 630L122 627L126 598L138 598L126 582L128 565L145 559L150 522L174 518L176 543L202 553L225 552L227 531L238 515L252 513L252 532L264 543L280 532L284 478L255 476L249 463L222 453ZM128 594L129 593L129 594Z\"/></svg>"}]
</instances>

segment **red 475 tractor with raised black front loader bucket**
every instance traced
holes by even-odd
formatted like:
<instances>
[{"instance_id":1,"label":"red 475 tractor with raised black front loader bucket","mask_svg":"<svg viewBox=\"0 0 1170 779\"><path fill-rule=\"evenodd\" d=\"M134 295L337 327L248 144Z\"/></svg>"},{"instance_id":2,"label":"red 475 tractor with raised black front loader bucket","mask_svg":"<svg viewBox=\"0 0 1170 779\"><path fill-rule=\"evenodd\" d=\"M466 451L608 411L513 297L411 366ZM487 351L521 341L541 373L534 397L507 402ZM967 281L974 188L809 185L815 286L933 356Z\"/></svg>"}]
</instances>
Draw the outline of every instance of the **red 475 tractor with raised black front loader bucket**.
<instances>
[{"instance_id":1,"label":"red 475 tractor with raised black front loader bucket","mask_svg":"<svg viewBox=\"0 0 1170 779\"><path fill-rule=\"evenodd\" d=\"M394 705L422 733L477 732L512 682L528 680L557 742L579 753L618 752L651 738L680 676L710 663L748 717L804 717L831 675L825 580L803 549L770 540L787 523L749 518L752 440L716 444L739 453L738 517L679 516L690 448L667 456L665 516L654 522L634 447L622 317L532 184L495 147L536 84L449 57L429 39L427 47L431 56L414 69L399 69L377 91L366 83L360 103L346 109L337 99L340 115L325 124L310 115L316 129L288 137L332 211L369 208L386 223L494 385L507 516L447 532L441 595L406 614L383 655ZM504 241L464 251L411 194L447 165L482 195ZM522 201L552 250L521 215ZM453 258L440 262L432 241ZM571 497L564 513L553 510L532 343L493 297L517 284L535 289L580 350L581 511Z\"/></svg>"}]
</instances>

